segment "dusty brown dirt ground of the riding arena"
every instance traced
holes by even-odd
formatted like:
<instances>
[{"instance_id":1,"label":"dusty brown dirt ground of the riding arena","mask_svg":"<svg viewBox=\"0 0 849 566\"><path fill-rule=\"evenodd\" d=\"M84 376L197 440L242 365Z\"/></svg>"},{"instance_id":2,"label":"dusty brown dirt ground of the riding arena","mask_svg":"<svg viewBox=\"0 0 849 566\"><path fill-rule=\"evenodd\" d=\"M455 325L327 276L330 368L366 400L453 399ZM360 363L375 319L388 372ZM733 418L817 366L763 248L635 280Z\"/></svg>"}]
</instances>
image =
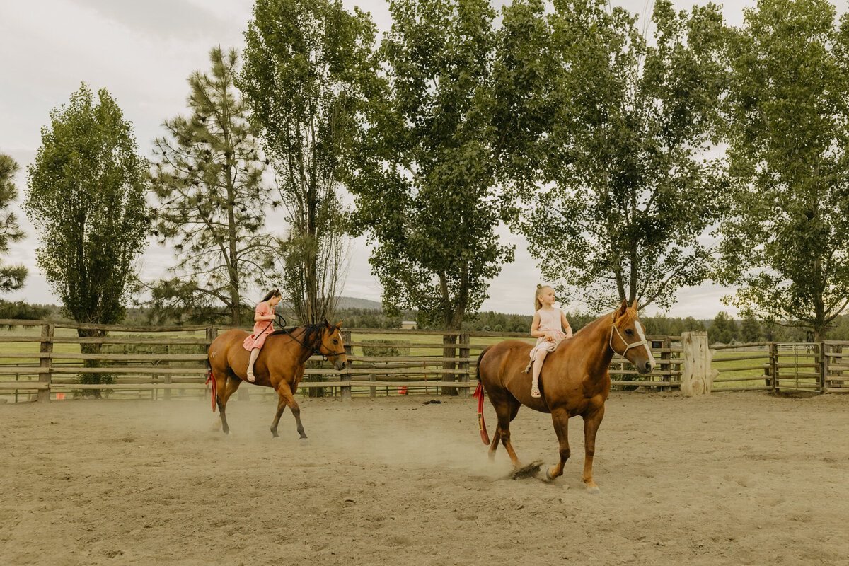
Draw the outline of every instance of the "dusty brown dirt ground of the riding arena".
<instances>
[{"instance_id":1,"label":"dusty brown dirt ground of the riding arena","mask_svg":"<svg viewBox=\"0 0 849 566\"><path fill-rule=\"evenodd\" d=\"M475 401L0 405L3 564L846 564L849 396L614 394L553 484L488 461ZM487 401L488 403L488 401ZM492 407L486 407L490 432ZM514 421L557 457L548 415Z\"/></svg>"}]
</instances>

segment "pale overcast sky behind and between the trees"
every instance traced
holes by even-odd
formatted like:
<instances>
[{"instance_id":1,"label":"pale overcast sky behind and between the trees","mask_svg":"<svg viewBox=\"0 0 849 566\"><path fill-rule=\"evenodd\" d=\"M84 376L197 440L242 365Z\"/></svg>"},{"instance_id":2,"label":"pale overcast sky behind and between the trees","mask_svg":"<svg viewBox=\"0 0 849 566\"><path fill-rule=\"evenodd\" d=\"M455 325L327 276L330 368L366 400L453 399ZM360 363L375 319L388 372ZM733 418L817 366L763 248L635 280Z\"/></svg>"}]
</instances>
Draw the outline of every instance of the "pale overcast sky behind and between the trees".
<instances>
[{"instance_id":1,"label":"pale overcast sky behind and between the trees","mask_svg":"<svg viewBox=\"0 0 849 566\"><path fill-rule=\"evenodd\" d=\"M389 4L384 0L343 3L347 8L364 8L381 31L389 29ZM613 3L638 14L646 14L652 5L644 0ZM678 0L674 4L678 9L689 9L704 3ZM743 8L754 5L754 1L727 2L723 13L731 25L741 25ZM846 11L846 0L835 5L838 14ZM241 48L251 6L250 0L0 2L0 152L10 154L21 165L17 178L20 198L25 190L26 166L41 145L41 128L47 125L50 110L67 103L81 82L94 91L101 87L109 90L134 124L142 153L151 156L152 142L162 134L162 120L186 112L186 80L194 70L209 69L210 48ZM12 244L11 255L3 261L23 263L30 274L25 289L3 298L59 303L35 265L37 238L33 227L22 212L19 216L28 238ZM542 276L524 238L506 229L502 238L516 245L515 261L503 266L501 275L492 281L490 299L483 309L531 314L533 289ZM355 241L342 294L380 300L380 284L370 273L368 255L365 241ZM165 275L172 263L171 250L151 241L142 260L143 278ZM269 282L269 286L273 284ZM678 304L668 314L708 318L721 310L735 313L720 302L728 292L711 284L683 289L678 293ZM654 312L649 307L649 313Z\"/></svg>"}]
</instances>

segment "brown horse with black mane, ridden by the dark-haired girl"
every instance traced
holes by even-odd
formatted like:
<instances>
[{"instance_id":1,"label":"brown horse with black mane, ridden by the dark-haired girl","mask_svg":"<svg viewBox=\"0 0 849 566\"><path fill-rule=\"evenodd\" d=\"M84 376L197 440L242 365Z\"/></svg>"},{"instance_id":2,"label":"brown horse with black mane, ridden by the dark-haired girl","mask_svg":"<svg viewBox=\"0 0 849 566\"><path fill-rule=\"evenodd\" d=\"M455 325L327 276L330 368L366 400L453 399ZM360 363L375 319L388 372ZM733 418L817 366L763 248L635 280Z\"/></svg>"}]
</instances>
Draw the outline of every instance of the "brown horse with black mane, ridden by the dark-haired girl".
<instances>
[{"instance_id":1,"label":"brown horse with black mane, ridden by the dark-haired girl","mask_svg":"<svg viewBox=\"0 0 849 566\"><path fill-rule=\"evenodd\" d=\"M295 391L304 377L304 364L313 354L327 357L333 361L337 370L345 369L348 358L342 344L342 333L339 330L341 326L331 326L329 322L324 321L323 324L278 330L267 336L254 364L254 384L271 387L277 391L277 414L271 425L271 434L275 437L278 436L277 425L280 416L288 406L295 415L298 433L302 439L306 438L304 426L301 424L301 407L295 401ZM211 371L212 395L221 412L224 434L230 432L227 424L227 400L239 389L239 385L247 380L250 352L242 347L242 342L248 334L245 330L228 330L212 340L206 352ZM214 404L212 411L215 412Z\"/></svg>"}]
</instances>

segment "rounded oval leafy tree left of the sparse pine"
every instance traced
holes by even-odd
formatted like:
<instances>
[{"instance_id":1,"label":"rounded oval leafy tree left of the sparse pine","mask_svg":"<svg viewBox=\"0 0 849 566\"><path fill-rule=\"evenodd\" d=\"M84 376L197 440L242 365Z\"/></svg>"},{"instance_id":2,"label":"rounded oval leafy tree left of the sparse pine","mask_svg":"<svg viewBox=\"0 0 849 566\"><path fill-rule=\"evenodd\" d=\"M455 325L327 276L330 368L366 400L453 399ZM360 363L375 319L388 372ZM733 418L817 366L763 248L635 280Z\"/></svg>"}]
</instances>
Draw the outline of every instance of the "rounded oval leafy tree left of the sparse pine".
<instances>
[{"instance_id":1,"label":"rounded oval leafy tree left of the sparse pine","mask_svg":"<svg viewBox=\"0 0 849 566\"><path fill-rule=\"evenodd\" d=\"M69 104L51 111L50 124L42 128L25 210L37 227L37 265L76 322L114 324L124 316L133 267L149 233L147 168L132 124L106 89L95 99L83 84ZM91 328L77 332L105 335ZM97 353L100 345L80 348ZM98 373L82 376L82 383L106 381ZM99 396L98 389L88 392Z\"/></svg>"}]
</instances>

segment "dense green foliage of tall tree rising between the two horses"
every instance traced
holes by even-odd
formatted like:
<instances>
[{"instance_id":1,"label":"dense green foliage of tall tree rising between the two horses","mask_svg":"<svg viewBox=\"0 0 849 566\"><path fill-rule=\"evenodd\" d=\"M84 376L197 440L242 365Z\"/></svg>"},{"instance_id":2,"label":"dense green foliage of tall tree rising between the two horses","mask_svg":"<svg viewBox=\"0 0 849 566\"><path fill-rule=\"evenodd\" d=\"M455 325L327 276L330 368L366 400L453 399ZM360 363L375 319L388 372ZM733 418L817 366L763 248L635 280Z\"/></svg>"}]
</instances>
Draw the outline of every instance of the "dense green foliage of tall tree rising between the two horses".
<instances>
[{"instance_id":1,"label":"dense green foliage of tall tree rising between the two horses","mask_svg":"<svg viewBox=\"0 0 849 566\"><path fill-rule=\"evenodd\" d=\"M486 281L513 260L496 228L490 132L495 14L486 0L399 0L358 140L357 229L385 308L418 311L419 328L460 328Z\"/></svg>"}]
</instances>

